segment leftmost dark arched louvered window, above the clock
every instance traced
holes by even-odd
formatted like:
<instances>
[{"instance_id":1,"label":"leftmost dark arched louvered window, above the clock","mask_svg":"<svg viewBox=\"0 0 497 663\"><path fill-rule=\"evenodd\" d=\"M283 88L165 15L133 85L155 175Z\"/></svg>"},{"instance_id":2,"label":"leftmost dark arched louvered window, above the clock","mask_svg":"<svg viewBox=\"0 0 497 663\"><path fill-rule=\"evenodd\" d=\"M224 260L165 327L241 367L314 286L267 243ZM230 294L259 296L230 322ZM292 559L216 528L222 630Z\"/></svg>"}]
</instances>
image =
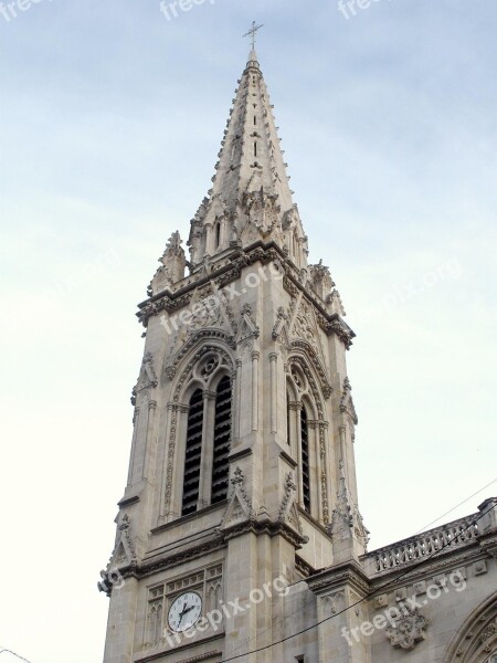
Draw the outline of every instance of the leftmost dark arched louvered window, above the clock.
<instances>
[{"instance_id":1,"label":"leftmost dark arched louvered window, above the clock","mask_svg":"<svg viewBox=\"0 0 497 663\"><path fill-rule=\"evenodd\" d=\"M190 399L184 456L183 501L181 515L197 511L199 502L200 469L202 455L203 393L197 389Z\"/></svg>"}]
</instances>

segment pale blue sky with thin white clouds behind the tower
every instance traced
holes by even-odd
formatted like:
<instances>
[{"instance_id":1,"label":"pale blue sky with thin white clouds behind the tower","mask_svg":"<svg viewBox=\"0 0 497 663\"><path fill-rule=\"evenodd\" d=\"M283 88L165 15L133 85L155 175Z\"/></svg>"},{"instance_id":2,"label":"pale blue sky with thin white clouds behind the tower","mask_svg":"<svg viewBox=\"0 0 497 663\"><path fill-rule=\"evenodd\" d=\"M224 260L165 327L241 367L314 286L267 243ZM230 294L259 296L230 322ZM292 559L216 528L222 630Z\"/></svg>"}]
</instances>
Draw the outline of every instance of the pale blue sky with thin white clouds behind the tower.
<instances>
[{"instance_id":1,"label":"pale blue sky with thin white clouds behind the tower","mask_svg":"<svg viewBox=\"0 0 497 663\"><path fill-rule=\"evenodd\" d=\"M0 650L102 661L136 305L210 188L253 20L310 259L357 334L370 548L497 495L497 6L350 2L0 3Z\"/></svg>"}]
</instances>

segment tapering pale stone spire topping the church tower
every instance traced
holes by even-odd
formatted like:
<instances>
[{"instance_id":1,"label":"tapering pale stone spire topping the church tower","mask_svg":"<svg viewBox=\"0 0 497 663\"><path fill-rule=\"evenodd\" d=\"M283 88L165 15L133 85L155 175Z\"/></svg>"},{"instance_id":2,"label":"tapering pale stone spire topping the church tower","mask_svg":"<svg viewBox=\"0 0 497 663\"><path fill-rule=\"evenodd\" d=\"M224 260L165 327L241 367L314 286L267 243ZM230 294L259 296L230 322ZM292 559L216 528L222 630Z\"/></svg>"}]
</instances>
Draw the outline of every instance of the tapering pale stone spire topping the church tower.
<instances>
[{"instance_id":1,"label":"tapering pale stone spire topping the church tower","mask_svg":"<svg viewBox=\"0 0 497 663\"><path fill-rule=\"evenodd\" d=\"M275 241L298 269L307 265L307 238L292 200L267 88L254 50L239 81L212 189L191 221L193 271L205 255L256 241Z\"/></svg>"}]
</instances>

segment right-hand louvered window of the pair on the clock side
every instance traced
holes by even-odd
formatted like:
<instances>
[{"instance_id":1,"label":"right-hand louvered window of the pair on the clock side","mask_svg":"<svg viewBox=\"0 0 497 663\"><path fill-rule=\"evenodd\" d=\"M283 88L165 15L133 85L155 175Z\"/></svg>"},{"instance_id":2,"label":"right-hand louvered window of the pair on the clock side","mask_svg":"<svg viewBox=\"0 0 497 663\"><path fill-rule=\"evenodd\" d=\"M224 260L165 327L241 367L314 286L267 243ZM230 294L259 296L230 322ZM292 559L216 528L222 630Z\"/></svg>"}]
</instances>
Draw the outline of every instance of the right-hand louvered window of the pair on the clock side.
<instances>
[{"instance_id":1,"label":"right-hand louvered window of the pair on the clock side","mask_svg":"<svg viewBox=\"0 0 497 663\"><path fill-rule=\"evenodd\" d=\"M218 385L215 394L211 504L222 502L228 495L230 440L231 380L224 376Z\"/></svg>"}]
</instances>

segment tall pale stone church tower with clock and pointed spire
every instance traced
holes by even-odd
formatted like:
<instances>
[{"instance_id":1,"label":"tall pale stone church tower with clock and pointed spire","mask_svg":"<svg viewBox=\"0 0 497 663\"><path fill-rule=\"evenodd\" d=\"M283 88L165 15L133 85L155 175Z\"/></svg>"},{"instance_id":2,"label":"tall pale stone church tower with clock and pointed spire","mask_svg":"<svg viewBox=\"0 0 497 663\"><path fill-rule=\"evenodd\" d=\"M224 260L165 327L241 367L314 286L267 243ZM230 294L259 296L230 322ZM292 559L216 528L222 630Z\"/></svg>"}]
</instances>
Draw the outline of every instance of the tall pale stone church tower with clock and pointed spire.
<instances>
[{"instance_id":1,"label":"tall pale stone church tower with clock and pointed spire","mask_svg":"<svg viewBox=\"0 0 497 663\"><path fill-rule=\"evenodd\" d=\"M139 305L129 474L99 583L104 663L317 660L305 639L273 646L286 614L317 619L289 588L366 551L355 334L328 267L308 264L288 180L252 51L189 256L173 233Z\"/></svg>"}]
</instances>

